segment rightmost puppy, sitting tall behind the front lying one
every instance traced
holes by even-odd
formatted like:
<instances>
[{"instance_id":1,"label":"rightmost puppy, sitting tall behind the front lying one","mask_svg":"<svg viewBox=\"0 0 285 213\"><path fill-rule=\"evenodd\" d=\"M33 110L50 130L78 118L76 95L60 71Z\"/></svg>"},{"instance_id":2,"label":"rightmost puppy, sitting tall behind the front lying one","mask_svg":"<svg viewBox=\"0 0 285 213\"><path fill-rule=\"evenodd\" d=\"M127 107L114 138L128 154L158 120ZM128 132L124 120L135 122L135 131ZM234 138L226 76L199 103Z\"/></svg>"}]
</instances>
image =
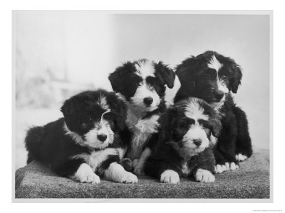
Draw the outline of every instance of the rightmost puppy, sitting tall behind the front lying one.
<instances>
[{"instance_id":1,"label":"rightmost puppy, sitting tall behind the front lying one","mask_svg":"<svg viewBox=\"0 0 285 213\"><path fill-rule=\"evenodd\" d=\"M184 60L176 74L181 87L175 102L186 97L204 99L222 116L223 128L214 152L217 173L239 168L239 161L252 155L247 116L232 98L242 80L239 65L232 58L207 51Z\"/></svg>"}]
</instances>

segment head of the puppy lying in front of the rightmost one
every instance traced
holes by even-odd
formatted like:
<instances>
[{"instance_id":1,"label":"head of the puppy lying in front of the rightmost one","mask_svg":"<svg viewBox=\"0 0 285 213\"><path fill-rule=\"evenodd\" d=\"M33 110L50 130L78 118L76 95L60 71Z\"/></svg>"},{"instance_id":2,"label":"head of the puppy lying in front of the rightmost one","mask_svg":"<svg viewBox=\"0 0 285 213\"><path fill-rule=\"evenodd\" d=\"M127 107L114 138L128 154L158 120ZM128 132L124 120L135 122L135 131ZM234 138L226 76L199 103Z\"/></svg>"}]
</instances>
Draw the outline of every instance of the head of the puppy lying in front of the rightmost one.
<instances>
[{"instance_id":1,"label":"head of the puppy lying in front of the rightmost one","mask_svg":"<svg viewBox=\"0 0 285 213\"><path fill-rule=\"evenodd\" d=\"M197 98L177 102L162 115L160 123L162 141L171 141L178 148L194 153L204 151L210 144L211 134L218 136L222 129L214 109Z\"/></svg>"}]
</instances>

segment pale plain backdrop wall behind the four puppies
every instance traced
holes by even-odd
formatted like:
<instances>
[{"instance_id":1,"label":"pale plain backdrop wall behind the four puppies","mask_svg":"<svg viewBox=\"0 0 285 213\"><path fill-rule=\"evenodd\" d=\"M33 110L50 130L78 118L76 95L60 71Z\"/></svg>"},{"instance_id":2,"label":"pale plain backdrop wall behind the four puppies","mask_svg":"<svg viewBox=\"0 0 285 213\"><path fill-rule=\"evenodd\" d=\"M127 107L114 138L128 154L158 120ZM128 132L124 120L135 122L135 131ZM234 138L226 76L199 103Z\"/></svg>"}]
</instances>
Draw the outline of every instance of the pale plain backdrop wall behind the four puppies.
<instances>
[{"instance_id":1,"label":"pale plain backdrop wall behind the four puppies","mask_svg":"<svg viewBox=\"0 0 285 213\"><path fill-rule=\"evenodd\" d=\"M59 80L110 90L108 74L121 62L149 58L175 67L190 55L215 50L244 70L234 98L247 112L252 143L269 148L269 26L266 15L14 11L16 76L25 84L48 69ZM48 119L61 116L57 109ZM16 109L16 125L43 123L29 121L27 110ZM21 132L17 143L23 143Z\"/></svg>"}]
</instances>

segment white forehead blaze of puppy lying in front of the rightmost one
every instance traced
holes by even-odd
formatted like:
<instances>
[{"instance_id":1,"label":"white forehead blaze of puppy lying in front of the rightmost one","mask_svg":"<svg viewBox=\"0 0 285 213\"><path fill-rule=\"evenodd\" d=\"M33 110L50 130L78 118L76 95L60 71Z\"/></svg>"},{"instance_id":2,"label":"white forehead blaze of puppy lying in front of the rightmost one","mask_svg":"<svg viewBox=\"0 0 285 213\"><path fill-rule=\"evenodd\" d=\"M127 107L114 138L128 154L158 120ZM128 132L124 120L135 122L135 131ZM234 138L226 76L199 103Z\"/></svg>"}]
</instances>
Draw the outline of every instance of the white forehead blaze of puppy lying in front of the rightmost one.
<instances>
[{"instance_id":1,"label":"white forehead blaze of puppy lying in front of the rightmost one","mask_svg":"<svg viewBox=\"0 0 285 213\"><path fill-rule=\"evenodd\" d=\"M197 121L198 119L208 120L209 116L204 114L204 109L200 106L199 100L196 98L192 98L190 103L187 104L185 109L185 116L190 119L194 119Z\"/></svg>"}]
</instances>

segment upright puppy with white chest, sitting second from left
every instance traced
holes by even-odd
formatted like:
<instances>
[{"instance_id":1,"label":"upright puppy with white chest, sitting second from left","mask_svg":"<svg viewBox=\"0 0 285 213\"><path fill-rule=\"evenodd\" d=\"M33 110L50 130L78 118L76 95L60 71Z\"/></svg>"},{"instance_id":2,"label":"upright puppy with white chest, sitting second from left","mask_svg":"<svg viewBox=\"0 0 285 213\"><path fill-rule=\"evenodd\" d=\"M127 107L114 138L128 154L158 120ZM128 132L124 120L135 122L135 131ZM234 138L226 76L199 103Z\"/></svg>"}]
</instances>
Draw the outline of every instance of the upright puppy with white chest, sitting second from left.
<instances>
[{"instance_id":1,"label":"upright puppy with white chest, sitting second from left","mask_svg":"<svg viewBox=\"0 0 285 213\"><path fill-rule=\"evenodd\" d=\"M125 62L109 76L113 90L128 107L123 140L128 141L126 158L133 170L142 174L145 158L156 141L157 119L165 111L165 87L172 88L175 72L162 62L135 60Z\"/></svg>"}]
</instances>

